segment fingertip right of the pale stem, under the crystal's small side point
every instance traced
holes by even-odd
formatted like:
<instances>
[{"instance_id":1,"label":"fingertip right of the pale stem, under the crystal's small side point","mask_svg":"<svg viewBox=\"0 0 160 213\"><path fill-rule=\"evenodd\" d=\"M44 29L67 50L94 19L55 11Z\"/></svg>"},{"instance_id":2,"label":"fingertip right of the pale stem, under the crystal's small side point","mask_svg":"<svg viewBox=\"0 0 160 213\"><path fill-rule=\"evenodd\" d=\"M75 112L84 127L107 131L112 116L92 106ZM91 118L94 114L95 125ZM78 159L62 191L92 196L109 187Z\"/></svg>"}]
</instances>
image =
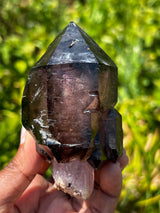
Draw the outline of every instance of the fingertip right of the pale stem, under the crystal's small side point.
<instances>
[{"instance_id":1,"label":"fingertip right of the pale stem, under the crystal's small side point","mask_svg":"<svg viewBox=\"0 0 160 213\"><path fill-rule=\"evenodd\" d=\"M105 162L96 173L99 187L96 187L90 199L86 201L88 212L113 213L122 187L120 163Z\"/></svg>"}]
</instances>

